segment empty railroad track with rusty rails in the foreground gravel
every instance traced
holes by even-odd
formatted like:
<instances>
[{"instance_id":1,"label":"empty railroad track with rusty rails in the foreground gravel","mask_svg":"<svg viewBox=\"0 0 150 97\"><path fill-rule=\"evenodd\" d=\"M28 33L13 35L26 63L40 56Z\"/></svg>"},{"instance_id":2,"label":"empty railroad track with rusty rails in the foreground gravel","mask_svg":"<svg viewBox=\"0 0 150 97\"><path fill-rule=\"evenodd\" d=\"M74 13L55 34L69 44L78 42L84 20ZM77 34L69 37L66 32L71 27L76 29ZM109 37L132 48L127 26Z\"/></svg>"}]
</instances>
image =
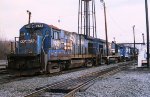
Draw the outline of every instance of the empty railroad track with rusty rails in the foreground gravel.
<instances>
[{"instance_id":1,"label":"empty railroad track with rusty rails in the foreground gravel","mask_svg":"<svg viewBox=\"0 0 150 97\"><path fill-rule=\"evenodd\" d=\"M36 91L31 94L25 95L25 97L53 97L53 95L57 95L58 93L62 93L64 97L74 97L75 93L80 91L81 88L92 85L98 78L109 76L127 68L127 64L131 63L122 63L119 66L107 68L98 72L92 72L78 78L70 78L61 82L46 85L36 89Z\"/></svg>"}]
</instances>

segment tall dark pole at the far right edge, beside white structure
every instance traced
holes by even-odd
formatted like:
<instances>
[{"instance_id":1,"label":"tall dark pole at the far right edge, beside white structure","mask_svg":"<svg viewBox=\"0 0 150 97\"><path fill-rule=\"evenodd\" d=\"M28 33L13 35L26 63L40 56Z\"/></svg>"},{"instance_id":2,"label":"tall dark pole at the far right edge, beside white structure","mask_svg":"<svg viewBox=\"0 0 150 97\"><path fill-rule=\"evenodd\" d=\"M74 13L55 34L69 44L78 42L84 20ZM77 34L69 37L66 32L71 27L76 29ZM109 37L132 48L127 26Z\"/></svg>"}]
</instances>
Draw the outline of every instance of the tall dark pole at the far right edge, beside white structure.
<instances>
[{"instance_id":1,"label":"tall dark pole at the far right edge, beside white structure","mask_svg":"<svg viewBox=\"0 0 150 97\"><path fill-rule=\"evenodd\" d=\"M146 13L146 32L147 32L147 68L149 68L149 20L148 20L147 0L145 0L145 13Z\"/></svg>"}]
</instances>

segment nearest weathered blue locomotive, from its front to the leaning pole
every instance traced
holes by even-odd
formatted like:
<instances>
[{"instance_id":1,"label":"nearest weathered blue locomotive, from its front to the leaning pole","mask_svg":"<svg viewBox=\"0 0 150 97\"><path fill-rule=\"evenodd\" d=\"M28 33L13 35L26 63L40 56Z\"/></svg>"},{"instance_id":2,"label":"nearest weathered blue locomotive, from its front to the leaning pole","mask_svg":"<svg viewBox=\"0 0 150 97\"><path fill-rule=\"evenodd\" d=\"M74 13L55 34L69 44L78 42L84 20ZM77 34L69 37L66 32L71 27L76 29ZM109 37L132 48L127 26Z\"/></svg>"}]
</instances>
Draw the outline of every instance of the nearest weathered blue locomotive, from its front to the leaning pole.
<instances>
[{"instance_id":1,"label":"nearest weathered blue locomotive, from its front to the leaning pole","mask_svg":"<svg viewBox=\"0 0 150 97\"><path fill-rule=\"evenodd\" d=\"M8 70L54 73L98 65L105 42L44 23L30 23L15 38L15 51L7 56Z\"/></svg>"}]
</instances>

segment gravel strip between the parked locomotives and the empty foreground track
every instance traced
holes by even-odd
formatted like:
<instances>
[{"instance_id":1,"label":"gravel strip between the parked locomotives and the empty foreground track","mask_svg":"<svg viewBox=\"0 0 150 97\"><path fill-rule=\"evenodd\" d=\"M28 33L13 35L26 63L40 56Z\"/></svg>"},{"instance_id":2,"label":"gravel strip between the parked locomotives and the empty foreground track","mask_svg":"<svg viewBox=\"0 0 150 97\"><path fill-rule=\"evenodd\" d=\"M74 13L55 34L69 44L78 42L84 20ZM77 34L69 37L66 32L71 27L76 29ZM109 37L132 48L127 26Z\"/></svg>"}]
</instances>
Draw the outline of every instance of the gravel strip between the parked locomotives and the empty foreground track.
<instances>
[{"instance_id":1,"label":"gravel strip between the parked locomotives and the empty foreground track","mask_svg":"<svg viewBox=\"0 0 150 97\"><path fill-rule=\"evenodd\" d=\"M68 78L76 78L82 75L85 75L90 72L100 71L105 68L109 68L115 65L104 65L100 67L88 68L86 70L71 72L67 74L62 74L59 76L53 77L33 77L30 79L14 81L6 84L0 85L0 97L23 97L33 91L36 88L40 88L46 86L48 84L52 84L54 82L59 82Z\"/></svg>"}]
</instances>

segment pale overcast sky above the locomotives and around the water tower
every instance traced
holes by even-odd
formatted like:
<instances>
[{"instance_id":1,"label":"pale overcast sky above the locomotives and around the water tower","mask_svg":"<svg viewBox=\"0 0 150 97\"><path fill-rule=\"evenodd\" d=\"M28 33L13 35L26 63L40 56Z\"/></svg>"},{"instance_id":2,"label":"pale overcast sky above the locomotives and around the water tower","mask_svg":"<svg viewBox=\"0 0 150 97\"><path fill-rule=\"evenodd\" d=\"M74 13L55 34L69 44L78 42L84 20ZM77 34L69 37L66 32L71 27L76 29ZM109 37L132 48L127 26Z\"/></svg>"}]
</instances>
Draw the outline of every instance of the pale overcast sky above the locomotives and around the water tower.
<instances>
[{"instance_id":1,"label":"pale overcast sky above the locomotives and around the water tower","mask_svg":"<svg viewBox=\"0 0 150 97\"><path fill-rule=\"evenodd\" d=\"M144 1L105 0L108 41L112 41L115 37L117 42L133 42L133 25L136 42L142 42L142 33L146 38ZM78 2L78 0L0 0L0 38L13 40L19 36L19 29L28 23L26 10L32 12L31 22L52 24L77 32ZM95 2L98 38L105 39L103 6L100 0ZM150 2L148 4L150 6Z\"/></svg>"}]
</instances>

